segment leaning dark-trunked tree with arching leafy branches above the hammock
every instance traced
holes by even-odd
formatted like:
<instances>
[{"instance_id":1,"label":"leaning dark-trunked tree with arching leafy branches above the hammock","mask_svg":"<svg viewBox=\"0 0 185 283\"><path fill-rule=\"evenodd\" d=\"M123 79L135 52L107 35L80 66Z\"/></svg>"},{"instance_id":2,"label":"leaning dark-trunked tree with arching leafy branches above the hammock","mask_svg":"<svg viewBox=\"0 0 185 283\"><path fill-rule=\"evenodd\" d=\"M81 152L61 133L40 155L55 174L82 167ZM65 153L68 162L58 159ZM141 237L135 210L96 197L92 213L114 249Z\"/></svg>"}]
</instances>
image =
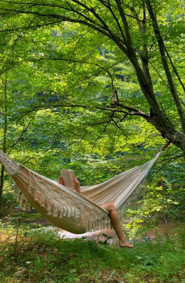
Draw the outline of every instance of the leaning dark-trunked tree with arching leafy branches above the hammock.
<instances>
[{"instance_id":1,"label":"leaning dark-trunked tree with arching leafy branches above the hammock","mask_svg":"<svg viewBox=\"0 0 185 283\"><path fill-rule=\"evenodd\" d=\"M178 63L179 58L181 61L184 55L179 54L179 46L177 46L177 42L174 42L175 38L178 37L178 42L180 42L180 38L184 37L183 13L184 7L180 3L177 6L173 1L163 1L161 3L158 0L132 1L131 5L129 1L123 3L120 0L96 0L93 2L70 0L53 1L52 3L48 1L44 3L1 1L1 15L11 16L14 21L13 26L2 29L2 31L7 29L26 30L48 25L52 27L54 25L61 26L61 30L63 30L65 27L64 22L68 22L73 23L72 29L74 28L74 30L75 26L78 26L78 28L85 26L91 29L91 36L98 37L100 35L101 39L104 38L104 40L106 38L108 45L111 45L111 51L114 47L115 53L122 52L124 54L124 59L120 63L129 60L132 64L137 82L145 97L145 103L147 102L150 108L150 114L140 110L139 107L130 105L133 104L132 101L129 101L128 104L121 102L121 94L114 86L113 76L109 70L110 67L105 68L101 64L102 58L98 64L96 63L98 60L95 62L89 60L87 62L87 60L81 59L83 53L73 56L74 58L72 56L66 58L65 54L60 52L58 52L58 56L57 52L53 52L53 54L52 52L45 52L45 54L38 54L36 60L68 61L76 64L88 64L88 68L98 67L101 70L99 72L103 71L104 74L108 74L111 78L113 102L108 106L101 105L99 107L95 105L94 108L111 112L112 119L115 118L113 117L116 116L115 113L122 113L123 116L115 118L118 119L117 121L124 119L125 115L141 116L161 132L163 137L184 151L185 117L182 96L185 87L180 77L183 72ZM24 18L22 15L24 15ZM88 34L87 30L81 35L79 41L86 34ZM70 37L73 37L72 32ZM78 43L76 42L76 46ZM171 48L175 55L171 52ZM74 55L75 49L72 55ZM178 55L176 52L178 52ZM156 60L158 60L158 67ZM113 66L118 63L117 61L114 62ZM152 76L153 70L156 72L157 77L156 75ZM165 104L168 105L173 99L173 111L174 106L176 108L174 112L175 121L172 117L169 117L170 115L167 115L167 111L160 104L158 95L155 92L155 80L163 83L162 92L165 96L163 98ZM66 105L66 103L55 104L53 107ZM72 105L71 103L68 105L68 107L74 106L87 108L91 105Z\"/></svg>"}]
</instances>

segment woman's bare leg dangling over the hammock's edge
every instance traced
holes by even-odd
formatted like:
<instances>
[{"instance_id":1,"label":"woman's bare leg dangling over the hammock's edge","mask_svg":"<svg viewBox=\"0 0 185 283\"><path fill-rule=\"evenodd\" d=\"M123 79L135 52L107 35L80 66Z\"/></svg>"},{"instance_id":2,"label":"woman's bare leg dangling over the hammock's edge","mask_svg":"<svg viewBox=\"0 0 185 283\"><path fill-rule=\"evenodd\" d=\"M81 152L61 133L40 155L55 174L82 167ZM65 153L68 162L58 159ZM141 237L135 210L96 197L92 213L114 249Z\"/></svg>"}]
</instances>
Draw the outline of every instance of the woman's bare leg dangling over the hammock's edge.
<instances>
[{"instance_id":1,"label":"woman's bare leg dangling over the hammock's edge","mask_svg":"<svg viewBox=\"0 0 185 283\"><path fill-rule=\"evenodd\" d=\"M110 220L111 220L111 224L118 236L119 239L119 246L121 248L127 247L127 248L133 248L133 245L131 245L124 237L123 235L123 231L121 228L121 223L120 223L120 217L117 213L117 210L115 208L115 206L113 205L112 202L107 202L101 205L101 207L103 207L104 209L106 209L107 211L109 211L110 213Z\"/></svg>"}]
</instances>

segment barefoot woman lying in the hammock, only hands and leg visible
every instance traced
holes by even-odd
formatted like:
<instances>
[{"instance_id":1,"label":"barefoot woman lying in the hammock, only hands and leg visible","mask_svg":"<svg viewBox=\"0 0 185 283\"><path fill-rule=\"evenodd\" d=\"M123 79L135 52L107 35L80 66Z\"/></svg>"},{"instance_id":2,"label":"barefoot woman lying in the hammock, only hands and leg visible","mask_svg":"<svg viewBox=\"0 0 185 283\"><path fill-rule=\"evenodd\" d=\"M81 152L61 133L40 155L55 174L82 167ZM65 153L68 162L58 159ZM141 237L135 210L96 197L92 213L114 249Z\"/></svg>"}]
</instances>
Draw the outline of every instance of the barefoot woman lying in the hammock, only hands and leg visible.
<instances>
[{"instance_id":1,"label":"barefoot woman lying in the hammock, only hands and leg visible","mask_svg":"<svg viewBox=\"0 0 185 283\"><path fill-rule=\"evenodd\" d=\"M74 178L73 180L74 183L74 188L76 190L76 192L78 192L80 194L80 182L78 181L77 178ZM59 184L64 186L64 181L63 178L60 177L59 178ZM121 223L120 223L120 217L117 213L117 210L114 206L114 204L112 202L107 202L104 204L100 205L101 207L103 207L104 209L106 209L107 211L109 211L109 217L111 220L111 224L118 236L119 239L119 246L121 248L127 247L127 248L133 248L133 245L131 245L124 237L123 232L122 232L122 228L121 228Z\"/></svg>"}]
</instances>

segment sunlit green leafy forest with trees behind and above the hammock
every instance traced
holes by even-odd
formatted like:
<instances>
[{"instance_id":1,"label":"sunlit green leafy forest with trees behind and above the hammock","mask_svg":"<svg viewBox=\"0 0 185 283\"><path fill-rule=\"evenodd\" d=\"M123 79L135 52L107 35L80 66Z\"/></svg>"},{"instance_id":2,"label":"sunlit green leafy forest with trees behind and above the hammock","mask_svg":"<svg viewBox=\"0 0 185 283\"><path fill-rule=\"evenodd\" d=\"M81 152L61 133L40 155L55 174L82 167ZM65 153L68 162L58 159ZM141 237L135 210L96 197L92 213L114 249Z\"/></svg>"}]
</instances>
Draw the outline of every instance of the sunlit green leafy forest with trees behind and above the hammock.
<instances>
[{"instance_id":1,"label":"sunlit green leafy forest with trees behind and above the hammock","mask_svg":"<svg viewBox=\"0 0 185 283\"><path fill-rule=\"evenodd\" d=\"M1 149L51 179L73 169L91 185L147 162L169 140L141 215L180 217L183 3L0 1L0 14ZM8 186L2 167L0 204Z\"/></svg>"}]
</instances>

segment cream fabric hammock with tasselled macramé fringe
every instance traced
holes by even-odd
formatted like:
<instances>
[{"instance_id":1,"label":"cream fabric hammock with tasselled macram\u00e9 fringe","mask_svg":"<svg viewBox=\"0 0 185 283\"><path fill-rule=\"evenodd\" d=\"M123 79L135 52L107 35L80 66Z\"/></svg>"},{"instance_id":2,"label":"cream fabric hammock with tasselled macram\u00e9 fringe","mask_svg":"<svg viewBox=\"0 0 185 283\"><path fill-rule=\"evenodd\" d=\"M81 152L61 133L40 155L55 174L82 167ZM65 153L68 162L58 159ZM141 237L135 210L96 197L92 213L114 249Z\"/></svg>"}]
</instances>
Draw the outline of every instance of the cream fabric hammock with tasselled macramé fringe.
<instances>
[{"instance_id":1,"label":"cream fabric hammock with tasselled macram\u00e9 fringe","mask_svg":"<svg viewBox=\"0 0 185 283\"><path fill-rule=\"evenodd\" d=\"M32 206L54 226L82 234L111 227L109 212L100 205L113 201L117 209L121 208L135 188L145 180L161 153L149 162L120 173L102 184L81 187L81 194L29 170L2 151L0 162L15 181L14 197L19 188L17 200L23 210L30 210Z\"/></svg>"}]
</instances>

